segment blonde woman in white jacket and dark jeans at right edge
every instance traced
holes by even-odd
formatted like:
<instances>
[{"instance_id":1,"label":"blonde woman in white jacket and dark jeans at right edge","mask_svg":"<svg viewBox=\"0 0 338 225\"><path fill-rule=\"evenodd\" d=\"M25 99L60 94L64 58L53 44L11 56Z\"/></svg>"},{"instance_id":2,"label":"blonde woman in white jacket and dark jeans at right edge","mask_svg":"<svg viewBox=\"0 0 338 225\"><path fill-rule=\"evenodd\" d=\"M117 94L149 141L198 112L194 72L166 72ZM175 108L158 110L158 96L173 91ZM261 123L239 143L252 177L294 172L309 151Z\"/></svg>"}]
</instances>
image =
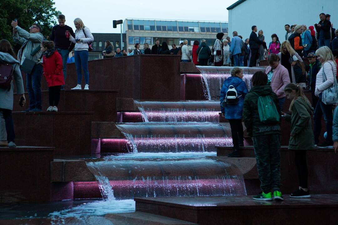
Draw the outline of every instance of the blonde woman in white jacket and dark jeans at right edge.
<instances>
[{"instance_id":1,"label":"blonde woman in white jacket and dark jeans at right edge","mask_svg":"<svg viewBox=\"0 0 338 225\"><path fill-rule=\"evenodd\" d=\"M322 98L325 97L322 92L334 84L334 80L336 79L335 75L337 74L337 64L333 57L333 54L329 47L321 47L317 49L316 56L322 67L320 68L317 77L316 77L316 89L315 95L319 97L318 103L316 105L315 113L313 114L314 117L314 138L315 138L315 145L317 147L329 147L333 146L332 141L332 122L333 122L333 115L332 115L332 107L333 105L326 105L322 102ZM324 81L323 77L326 77ZM324 116L325 124L326 124L326 131L327 137L324 143L318 144L319 142L319 135L321 132L321 117Z\"/></svg>"}]
</instances>

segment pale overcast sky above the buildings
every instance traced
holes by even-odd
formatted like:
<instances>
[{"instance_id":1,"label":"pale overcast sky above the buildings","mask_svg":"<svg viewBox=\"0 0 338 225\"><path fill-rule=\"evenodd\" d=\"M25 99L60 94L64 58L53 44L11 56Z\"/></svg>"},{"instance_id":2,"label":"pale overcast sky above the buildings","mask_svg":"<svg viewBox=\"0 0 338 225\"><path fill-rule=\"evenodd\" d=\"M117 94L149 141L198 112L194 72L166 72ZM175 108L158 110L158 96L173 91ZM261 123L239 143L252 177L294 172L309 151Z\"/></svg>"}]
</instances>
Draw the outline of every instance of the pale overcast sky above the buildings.
<instances>
[{"instance_id":1,"label":"pale overcast sky above the buildings","mask_svg":"<svg viewBox=\"0 0 338 225\"><path fill-rule=\"evenodd\" d=\"M119 33L113 20L126 18L228 21L226 8L237 0L214 1L136 1L136 0L54 0L55 7L66 16L66 24L73 29L74 19L82 19L92 33ZM205 2L205 3L203 3ZM165 5L163 5L165 3ZM220 5L223 3L223 5ZM216 8L217 10L215 10Z\"/></svg>"}]
</instances>

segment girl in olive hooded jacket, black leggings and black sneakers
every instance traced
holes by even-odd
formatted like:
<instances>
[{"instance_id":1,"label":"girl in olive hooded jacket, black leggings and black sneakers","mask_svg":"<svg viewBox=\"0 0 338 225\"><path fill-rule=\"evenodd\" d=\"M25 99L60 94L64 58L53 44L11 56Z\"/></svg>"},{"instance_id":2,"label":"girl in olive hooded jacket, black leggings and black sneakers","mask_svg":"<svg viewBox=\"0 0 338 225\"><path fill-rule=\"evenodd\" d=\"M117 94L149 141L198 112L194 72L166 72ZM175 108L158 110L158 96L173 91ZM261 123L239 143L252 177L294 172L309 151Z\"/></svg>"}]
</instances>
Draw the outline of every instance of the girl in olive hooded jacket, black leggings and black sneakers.
<instances>
[{"instance_id":1,"label":"girl in olive hooded jacket, black leggings and black sneakers","mask_svg":"<svg viewBox=\"0 0 338 225\"><path fill-rule=\"evenodd\" d=\"M285 119L291 122L289 149L295 151L295 164L298 170L299 189L293 192L291 198L310 198L308 190L308 166L306 151L314 148L311 117L313 108L303 93L303 88L294 83L287 84L285 94L291 100L289 110L291 116L283 113Z\"/></svg>"}]
</instances>

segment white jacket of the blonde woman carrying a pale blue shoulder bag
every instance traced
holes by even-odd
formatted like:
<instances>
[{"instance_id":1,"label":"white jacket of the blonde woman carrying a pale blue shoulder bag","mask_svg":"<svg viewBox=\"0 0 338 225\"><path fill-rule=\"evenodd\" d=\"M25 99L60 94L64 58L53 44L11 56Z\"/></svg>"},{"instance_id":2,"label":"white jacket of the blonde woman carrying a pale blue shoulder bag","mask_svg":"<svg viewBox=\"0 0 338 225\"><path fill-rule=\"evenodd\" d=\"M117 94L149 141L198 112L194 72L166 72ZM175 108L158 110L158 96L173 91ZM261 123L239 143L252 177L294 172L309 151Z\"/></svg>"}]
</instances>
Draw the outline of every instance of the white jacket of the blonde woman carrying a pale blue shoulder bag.
<instances>
[{"instance_id":1,"label":"white jacket of the blonde woman carrying a pale blue shoulder bag","mask_svg":"<svg viewBox=\"0 0 338 225\"><path fill-rule=\"evenodd\" d=\"M326 81L323 83L323 70L326 76ZM328 89L333 83L334 79L336 79L337 67L333 61L327 61L320 68L317 77L316 77L316 89L315 95L319 96L321 92L325 89Z\"/></svg>"}]
</instances>

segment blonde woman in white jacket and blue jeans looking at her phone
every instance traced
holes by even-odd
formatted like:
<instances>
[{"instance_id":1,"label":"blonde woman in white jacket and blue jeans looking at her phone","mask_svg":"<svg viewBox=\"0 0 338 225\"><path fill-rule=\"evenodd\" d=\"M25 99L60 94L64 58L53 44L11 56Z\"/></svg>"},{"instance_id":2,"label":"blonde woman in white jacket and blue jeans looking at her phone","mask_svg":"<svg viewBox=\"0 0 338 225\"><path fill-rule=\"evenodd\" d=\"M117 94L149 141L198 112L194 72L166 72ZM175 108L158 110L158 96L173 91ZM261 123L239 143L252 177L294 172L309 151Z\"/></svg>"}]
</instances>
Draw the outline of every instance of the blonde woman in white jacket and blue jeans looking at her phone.
<instances>
[{"instance_id":1,"label":"blonde woman in white jacket and blue jeans looking at her phone","mask_svg":"<svg viewBox=\"0 0 338 225\"><path fill-rule=\"evenodd\" d=\"M88 43L94 41L94 37L88 27L85 27L80 18L74 20L75 38L69 35L69 40L75 44L74 60L77 73L77 86L72 89L82 89L82 71L84 74L84 90L89 90L89 72L88 72Z\"/></svg>"}]
</instances>

